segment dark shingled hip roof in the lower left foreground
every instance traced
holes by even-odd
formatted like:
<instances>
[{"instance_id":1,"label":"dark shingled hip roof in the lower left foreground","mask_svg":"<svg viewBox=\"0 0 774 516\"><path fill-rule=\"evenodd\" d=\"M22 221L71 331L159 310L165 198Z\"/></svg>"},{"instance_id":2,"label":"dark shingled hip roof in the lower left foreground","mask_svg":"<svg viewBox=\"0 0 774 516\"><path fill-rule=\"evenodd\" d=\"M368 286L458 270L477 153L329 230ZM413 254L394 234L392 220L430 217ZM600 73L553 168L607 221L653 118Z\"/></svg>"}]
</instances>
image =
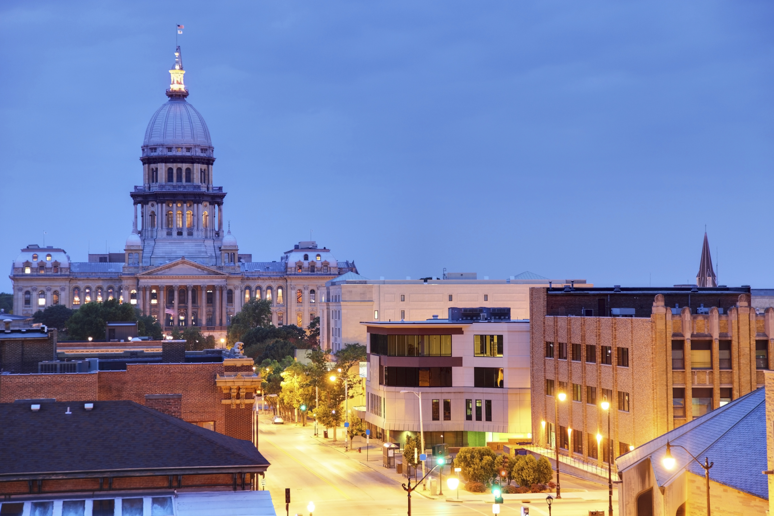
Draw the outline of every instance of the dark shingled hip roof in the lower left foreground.
<instances>
[{"instance_id":1,"label":"dark shingled hip roof in the lower left foreground","mask_svg":"<svg viewBox=\"0 0 774 516\"><path fill-rule=\"evenodd\" d=\"M94 402L91 410L84 402L2 403L0 421L0 480L259 473L269 466L250 441L135 402Z\"/></svg>"}]
</instances>

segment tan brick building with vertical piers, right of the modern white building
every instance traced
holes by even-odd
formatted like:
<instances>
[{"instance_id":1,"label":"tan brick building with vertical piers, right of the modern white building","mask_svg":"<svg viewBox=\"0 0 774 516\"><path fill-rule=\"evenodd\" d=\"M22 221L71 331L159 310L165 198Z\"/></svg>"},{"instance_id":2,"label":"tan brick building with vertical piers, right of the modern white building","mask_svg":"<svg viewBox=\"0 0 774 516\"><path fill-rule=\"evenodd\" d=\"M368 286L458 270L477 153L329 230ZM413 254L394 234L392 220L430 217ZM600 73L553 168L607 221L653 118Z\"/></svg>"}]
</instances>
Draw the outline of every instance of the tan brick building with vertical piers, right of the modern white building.
<instances>
[{"instance_id":1,"label":"tan brick building with vertical piers, right of the modern white building","mask_svg":"<svg viewBox=\"0 0 774 516\"><path fill-rule=\"evenodd\" d=\"M558 430L563 453L598 465L604 398L615 458L755 390L771 368L774 309L757 315L748 287L533 288L530 313L533 442L553 447Z\"/></svg>"}]
</instances>

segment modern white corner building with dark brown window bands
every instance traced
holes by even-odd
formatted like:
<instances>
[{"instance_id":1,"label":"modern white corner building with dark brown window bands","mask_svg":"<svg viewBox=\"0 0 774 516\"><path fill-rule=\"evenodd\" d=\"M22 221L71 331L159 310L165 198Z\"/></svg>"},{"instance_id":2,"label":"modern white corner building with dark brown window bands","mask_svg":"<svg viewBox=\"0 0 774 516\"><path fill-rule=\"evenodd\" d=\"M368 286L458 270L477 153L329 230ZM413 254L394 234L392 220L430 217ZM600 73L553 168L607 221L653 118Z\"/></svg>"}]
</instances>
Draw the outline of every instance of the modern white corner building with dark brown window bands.
<instances>
[{"instance_id":1,"label":"modern white corner building with dark brown window bands","mask_svg":"<svg viewBox=\"0 0 774 516\"><path fill-rule=\"evenodd\" d=\"M475 320L361 323L368 372L359 415L373 436L405 443L418 434L421 395L426 447L531 439L529 321L511 320L508 309L499 309L507 319L492 319L496 310L470 309Z\"/></svg>"}]
</instances>

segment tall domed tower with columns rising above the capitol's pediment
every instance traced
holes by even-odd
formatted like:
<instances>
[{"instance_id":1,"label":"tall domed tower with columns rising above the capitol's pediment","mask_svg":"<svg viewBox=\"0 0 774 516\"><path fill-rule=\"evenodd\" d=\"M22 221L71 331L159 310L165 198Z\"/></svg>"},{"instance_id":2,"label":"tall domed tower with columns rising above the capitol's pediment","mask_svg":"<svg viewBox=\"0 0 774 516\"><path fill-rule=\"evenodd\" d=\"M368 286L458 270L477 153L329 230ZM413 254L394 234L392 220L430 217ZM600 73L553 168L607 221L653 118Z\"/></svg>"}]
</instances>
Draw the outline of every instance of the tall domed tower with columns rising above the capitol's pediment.
<instances>
[{"instance_id":1,"label":"tall domed tower with columns rising above the capitol's pediment","mask_svg":"<svg viewBox=\"0 0 774 516\"><path fill-rule=\"evenodd\" d=\"M180 46L170 70L169 100L151 117L142 142L142 186L130 195L142 241L142 265L185 256L221 265L222 186L213 186L214 147L199 111L188 103Z\"/></svg>"}]
</instances>

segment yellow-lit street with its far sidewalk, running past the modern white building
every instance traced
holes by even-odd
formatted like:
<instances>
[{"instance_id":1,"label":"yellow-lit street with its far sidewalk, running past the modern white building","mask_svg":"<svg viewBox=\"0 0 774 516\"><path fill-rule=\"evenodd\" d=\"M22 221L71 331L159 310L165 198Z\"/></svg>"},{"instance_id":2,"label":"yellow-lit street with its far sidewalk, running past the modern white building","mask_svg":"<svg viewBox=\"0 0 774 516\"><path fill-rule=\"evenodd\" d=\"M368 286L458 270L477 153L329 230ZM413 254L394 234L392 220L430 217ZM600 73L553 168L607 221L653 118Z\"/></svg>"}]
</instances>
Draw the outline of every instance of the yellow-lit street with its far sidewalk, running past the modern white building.
<instances>
[{"instance_id":1,"label":"yellow-lit street with its far sidewalk, running past the modern white building","mask_svg":"<svg viewBox=\"0 0 774 516\"><path fill-rule=\"evenodd\" d=\"M267 415L260 416L259 450L272 463L266 473L266 489L272 494L276 513L285 512L285 489L290 488L289 514L309 514L307 504L313 501L317 516L340 514L406 514L406 492L400 486L406 482L395 469L382 467L382 450L371 445L366 463L365 447L358 453L344 453L344 429L338 429L340 439L313 437L313 423L306 427L292 423L272 425ZM332 432L329 434L333 435ZM330 443L330 444L329 444ZM446 469L449 473L449 469ZM447 490L444 474L444 494L457 496ZM563 499L554 501L552 514L569 516L587 511L601 511L608 507L606 486L562 476ZM473 515L491 513L491 494L473 494L460 490L460 502L446 501L446 497L430 497L430 491L420 494L422 487L412 494L412 514ZM613 507L617 511L616 490ZM522 501L529 500L529 503ZM548 513L546 494L509 494L500 506L500 514L521 514L521 507L529 507L529 514Z\"/></svg>"}]
</instances>

